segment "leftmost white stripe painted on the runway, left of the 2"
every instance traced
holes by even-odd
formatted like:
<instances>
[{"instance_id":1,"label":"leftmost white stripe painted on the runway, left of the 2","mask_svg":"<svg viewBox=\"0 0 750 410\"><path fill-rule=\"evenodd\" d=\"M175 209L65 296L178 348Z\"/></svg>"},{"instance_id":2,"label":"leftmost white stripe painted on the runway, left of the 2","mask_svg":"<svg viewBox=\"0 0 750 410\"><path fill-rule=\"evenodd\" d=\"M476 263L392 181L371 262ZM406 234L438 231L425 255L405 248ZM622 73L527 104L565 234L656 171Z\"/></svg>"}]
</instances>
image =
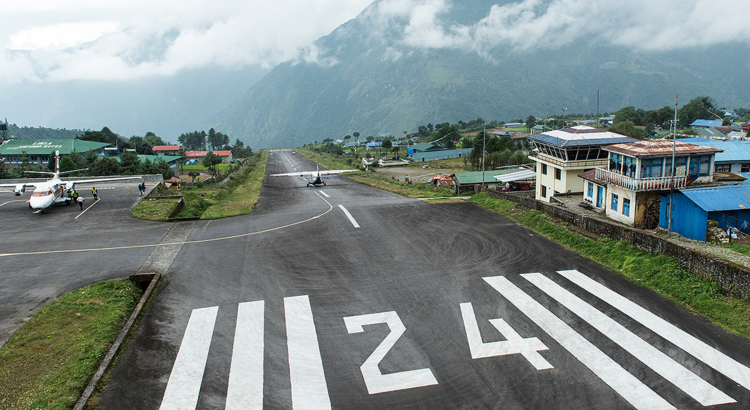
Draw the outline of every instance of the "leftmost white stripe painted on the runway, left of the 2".
<instances>
[{"instance_id":1,"label":"leftmost white stripe painted on the runway, left of the 2","mask_svg":"<svg viewBox=\"0 0 750 410\"><path fill-rule=\"evenodd\" d=\"M218 306L193 309L159 409L194 409L203 382Z\"/></svg>"}]
</instances>

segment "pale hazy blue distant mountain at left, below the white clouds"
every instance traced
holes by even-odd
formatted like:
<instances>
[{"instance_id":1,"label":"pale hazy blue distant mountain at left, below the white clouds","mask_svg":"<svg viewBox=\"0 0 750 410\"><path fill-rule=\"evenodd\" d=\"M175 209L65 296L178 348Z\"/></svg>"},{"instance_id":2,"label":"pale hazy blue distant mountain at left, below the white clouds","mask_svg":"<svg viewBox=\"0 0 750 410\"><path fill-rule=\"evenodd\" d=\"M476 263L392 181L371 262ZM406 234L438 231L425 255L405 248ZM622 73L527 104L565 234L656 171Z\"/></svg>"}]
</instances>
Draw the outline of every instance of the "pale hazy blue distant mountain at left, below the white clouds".
<instances>
[{"instance_id":1,"label":"pale hazy blue distant mountain at left, below the white clouds","mask_svg":"<svg viewBox=\"0 0 750 410\"><path fill-rule=\"evenodd\" d=\"M151 131L177 143L178 135L203 129L268 71L212 67L128 80L23 81L0 88L0 120L50 128L106 126L125 137Z\"/></svg>"}]
</instances>

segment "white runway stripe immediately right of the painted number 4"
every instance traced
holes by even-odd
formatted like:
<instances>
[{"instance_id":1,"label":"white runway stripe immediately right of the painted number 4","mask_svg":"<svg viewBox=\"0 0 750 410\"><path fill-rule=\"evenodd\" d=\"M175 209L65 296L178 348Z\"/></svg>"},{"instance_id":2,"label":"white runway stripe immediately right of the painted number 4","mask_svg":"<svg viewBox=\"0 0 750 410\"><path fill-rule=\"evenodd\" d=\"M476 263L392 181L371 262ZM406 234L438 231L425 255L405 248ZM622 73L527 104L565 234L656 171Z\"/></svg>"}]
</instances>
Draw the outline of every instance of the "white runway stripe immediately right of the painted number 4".
<instances>
[{"instance_id":1,"label":"white runway stripe immediately right of the painted number 4","mask_svg":"<svg viewBox=\"0 0 750 410\"><path fill-rule=\"evenodd\" d=\"M504 276L483 279L635 408L674 409L674 406Z\"/></svg>"}]
</instances>

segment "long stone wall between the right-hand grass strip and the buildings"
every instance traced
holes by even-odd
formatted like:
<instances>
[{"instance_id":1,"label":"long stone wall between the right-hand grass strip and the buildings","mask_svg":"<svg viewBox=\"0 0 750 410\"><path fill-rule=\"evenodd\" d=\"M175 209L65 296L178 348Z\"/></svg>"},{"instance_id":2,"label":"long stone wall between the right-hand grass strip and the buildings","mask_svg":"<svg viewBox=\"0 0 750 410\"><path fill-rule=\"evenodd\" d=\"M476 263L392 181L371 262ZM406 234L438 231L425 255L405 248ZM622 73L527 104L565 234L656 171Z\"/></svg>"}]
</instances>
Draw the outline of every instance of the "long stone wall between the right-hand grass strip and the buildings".
<instances>
[{"instance_id":1,"label":"long stone wall between the right-hand grass strip and the buildings","mask_svg":"<svg viewBox=\"0 0 750 410\"><path fill-rule=\"evenodd\" d=\"M682 246L667 240L660 235L621 225L586 215L580 215L568 209L538 201L534 198L520 197L506 192L488 190L489 194L513 201L531 209L553 215L578 228L585 229L598 236L612 240L626 240L643 252L655 255L663 254L674 258L686 271L714 280L729 293L742 298L750 297L750 269L721 259L699 250Z\"/></svg>"}]
</instances>

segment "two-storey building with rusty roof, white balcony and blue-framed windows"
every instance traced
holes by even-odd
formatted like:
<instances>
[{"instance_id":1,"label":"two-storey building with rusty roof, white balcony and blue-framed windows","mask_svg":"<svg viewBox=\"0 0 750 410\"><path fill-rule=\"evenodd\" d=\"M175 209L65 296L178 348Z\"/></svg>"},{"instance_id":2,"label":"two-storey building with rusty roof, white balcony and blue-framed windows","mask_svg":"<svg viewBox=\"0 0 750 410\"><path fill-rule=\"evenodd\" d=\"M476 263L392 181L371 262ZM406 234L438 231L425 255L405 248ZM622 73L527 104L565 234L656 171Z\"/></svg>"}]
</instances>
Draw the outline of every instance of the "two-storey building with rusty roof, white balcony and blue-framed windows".
<instances>
[{"instance_id":1,"label":"two-storey building with rusty roof, white balcony and blue-framed windows","mask_svg":"<svg viewBox=\"0 0 750 410\"><path fill-rule=\"evenodd\" d=\"M637 141L602 147L607 163L582 175L583 199L624 224L653 229L659 223L661 197L675 189L713 182L714 156L720 149L674 143L672 140Z\"/></svg>"}]
</instances>

